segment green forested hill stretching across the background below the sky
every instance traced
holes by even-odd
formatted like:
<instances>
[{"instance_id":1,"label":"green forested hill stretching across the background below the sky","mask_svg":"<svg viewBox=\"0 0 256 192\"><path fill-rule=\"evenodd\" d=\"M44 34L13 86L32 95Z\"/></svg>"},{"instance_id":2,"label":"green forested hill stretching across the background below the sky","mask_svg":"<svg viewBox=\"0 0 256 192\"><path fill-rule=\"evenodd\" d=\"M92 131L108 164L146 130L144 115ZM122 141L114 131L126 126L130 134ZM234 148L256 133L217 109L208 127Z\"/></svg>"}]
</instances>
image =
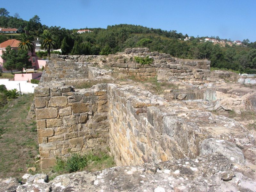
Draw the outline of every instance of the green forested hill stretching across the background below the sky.
<instances>
[{"instance_id":1,"label":"green forested hill stretching across the background below the sky","mask_svg":"<svg viewBox=\"0 0 256 192\"><path fill-rule=\"evenodd\" d=\"M200 41L204 40L204 37L191 37L189 41L184 41L188 35L177 33L175 30L166 31L128 24L112 25L106 29L86 28L93 32L77 34L78 29L42 25L37 15L25 21L17 15L12 17L2 14L0 26L18 28L19 33L26 32L34 39L40 36L44 29L49 29L56 37L56 49L61 48L62 54L107 55L123 52L125 48L148 47L150 51L169 53L173 57L208 59L211 60L212 67L256 73L256 42L249 43L248 40L244 40L242 45L220 46ZM18 36L0 35L0 43L16 37Z\"/></svg>"}]
</instances>

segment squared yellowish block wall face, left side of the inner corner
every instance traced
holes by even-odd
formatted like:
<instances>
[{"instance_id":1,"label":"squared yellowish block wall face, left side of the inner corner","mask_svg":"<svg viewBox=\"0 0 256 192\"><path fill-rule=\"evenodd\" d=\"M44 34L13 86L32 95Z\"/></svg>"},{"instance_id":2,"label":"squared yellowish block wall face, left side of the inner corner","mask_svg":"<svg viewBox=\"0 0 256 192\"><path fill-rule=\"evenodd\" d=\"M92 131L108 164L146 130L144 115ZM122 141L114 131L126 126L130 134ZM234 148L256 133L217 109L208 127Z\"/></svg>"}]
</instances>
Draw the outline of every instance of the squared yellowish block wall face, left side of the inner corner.
<instances>
[{"instance_id":1,"label":"squared yellowish block wall face, left side of the inner corner","mask_svg":"<svg viewBox=\"0 0 256 192\"><path fill-rule=\"evenodd\" d=\"M56 157L108 147L108 100L106 84L74 91L56 82L35 89L37 132L42 169Z\"/></svg>"}]
</instances>

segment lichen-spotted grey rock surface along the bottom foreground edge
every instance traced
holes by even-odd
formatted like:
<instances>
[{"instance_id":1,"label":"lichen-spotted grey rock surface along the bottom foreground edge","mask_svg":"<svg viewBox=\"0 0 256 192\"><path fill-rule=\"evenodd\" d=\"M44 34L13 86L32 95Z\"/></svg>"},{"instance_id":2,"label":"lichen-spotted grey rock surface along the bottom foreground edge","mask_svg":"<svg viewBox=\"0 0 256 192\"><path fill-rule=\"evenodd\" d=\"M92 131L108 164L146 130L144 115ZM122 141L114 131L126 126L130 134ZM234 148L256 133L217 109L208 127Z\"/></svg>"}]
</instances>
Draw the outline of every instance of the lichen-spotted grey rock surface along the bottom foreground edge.
<instances>
[{"instance_id":1,"label":"lichen-spotted grey rock surface along the bottom foreground edge","mask_svg":"<svg viewBox=\"0 0 256 192\"><path fill-rule=\"evenodd\" d=\"M41 182L38 179L41 178ZM44 174L30 176L23 185L13 178L0 180L1 191L255 191L256 181L244 176L231 161L212 153L196 159L159 164L112 167L100 172L75 172L46 183Z\"/></svg>"}]
</instances>

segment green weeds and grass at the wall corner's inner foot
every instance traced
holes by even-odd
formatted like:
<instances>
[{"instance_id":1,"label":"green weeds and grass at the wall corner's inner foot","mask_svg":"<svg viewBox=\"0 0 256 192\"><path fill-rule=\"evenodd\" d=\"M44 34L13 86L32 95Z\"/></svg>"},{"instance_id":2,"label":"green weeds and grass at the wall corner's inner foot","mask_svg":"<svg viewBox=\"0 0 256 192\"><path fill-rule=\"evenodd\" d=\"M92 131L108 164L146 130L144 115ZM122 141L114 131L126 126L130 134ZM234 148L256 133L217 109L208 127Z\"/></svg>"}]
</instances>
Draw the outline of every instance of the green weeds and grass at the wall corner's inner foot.
<instances>
[{"instance_id":1,"label":"green weeds and grass at the wall corner's inner foot","mask_svg":"<svg viewBox=\"0 0 256 192\"><path fill-rule=\"evenodd\" d=\"M100 171L102 169L113 167L114 165L114 158L103 151L97 153L91 152L85 155L74 153L66 160L57 158L56 166L53 168L53 171L58 174L82 170Z\"/></svg>"}]
</instances>

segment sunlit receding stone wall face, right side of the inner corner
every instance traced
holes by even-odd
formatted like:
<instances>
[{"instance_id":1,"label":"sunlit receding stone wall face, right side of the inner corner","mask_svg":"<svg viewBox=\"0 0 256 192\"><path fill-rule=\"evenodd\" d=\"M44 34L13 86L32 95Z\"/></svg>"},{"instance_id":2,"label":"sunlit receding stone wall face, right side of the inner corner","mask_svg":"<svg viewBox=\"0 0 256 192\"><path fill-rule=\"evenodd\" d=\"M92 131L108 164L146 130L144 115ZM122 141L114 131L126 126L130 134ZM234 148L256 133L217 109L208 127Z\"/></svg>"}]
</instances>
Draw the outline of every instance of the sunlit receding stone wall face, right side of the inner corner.
<instances>
[{"instance_id":1,"label":"sunlit receding stone wall face, right side of the inner corner","mask_svg":"<svg viewBox=\"0 0 256 192\"><path fill-rule=\"evenodd\" d=\"M117 165L199 155L200 143L206 135L199 132L196 124L164 112L164 101L159 99L131 86L108 87L110 148ZM170 107L166 111L173 110Z\"/></svg>"}]
</instances>

